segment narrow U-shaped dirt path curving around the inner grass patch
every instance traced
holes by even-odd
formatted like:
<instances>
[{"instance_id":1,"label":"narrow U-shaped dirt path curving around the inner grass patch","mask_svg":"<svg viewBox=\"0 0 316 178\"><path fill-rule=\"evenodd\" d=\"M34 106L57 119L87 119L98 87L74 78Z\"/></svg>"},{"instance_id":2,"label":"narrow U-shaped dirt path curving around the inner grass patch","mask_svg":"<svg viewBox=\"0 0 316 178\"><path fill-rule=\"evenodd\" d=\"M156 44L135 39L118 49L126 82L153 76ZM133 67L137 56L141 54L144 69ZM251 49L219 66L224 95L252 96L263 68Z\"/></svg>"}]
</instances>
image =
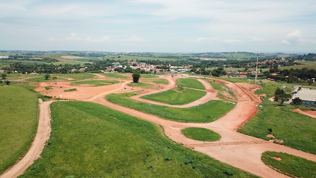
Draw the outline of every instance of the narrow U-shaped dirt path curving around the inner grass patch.
<instances>
[{"instance_id":1,"label":"narrow U-shaped dirt path curving around the inner grass patch","mask_svg":"<svg viewBox=\"0 0 316 178\"><path fill-rule=\"evenodd\" d=\"M140 97L142 97L144 95L160 93L160 92L164 92L164 91L167 91L167 90L170 90L170 89L176 87L174 78L165 76L165 79L167 79L168 82L169 82L169 84L165 88L160 89L160 90L152 90L150 92L145 92L145 93L142 93L142 94L139 94L139 95L136 95L136 96L132 96L130 98L134 99L134 100L137 100L137 101L150 103L150 104L153 104L153 105L161 105L161 106L168 106L168 107L174 107L174 108L189 108L189 107L192 107L192 106L202 105L202 104L204 104L204 103L206 103L206 102L208 102L210 100L219 100L219 98L216 97L218 92L216 90L214 90L214 88L207 81L202 80L202 79L198 79L198 80L205 86L206 90L202 90L202 91L205 91L206 95L204 95L200 99L197 99L197 100L195 100L195 101L193 101L191 103L185 104L185 105L169 105L169 104L166 104L166 103L161 103L161 102L157 102L157 101L152 101L152 100L140 98Z\"/></svg>"}]
</instances>

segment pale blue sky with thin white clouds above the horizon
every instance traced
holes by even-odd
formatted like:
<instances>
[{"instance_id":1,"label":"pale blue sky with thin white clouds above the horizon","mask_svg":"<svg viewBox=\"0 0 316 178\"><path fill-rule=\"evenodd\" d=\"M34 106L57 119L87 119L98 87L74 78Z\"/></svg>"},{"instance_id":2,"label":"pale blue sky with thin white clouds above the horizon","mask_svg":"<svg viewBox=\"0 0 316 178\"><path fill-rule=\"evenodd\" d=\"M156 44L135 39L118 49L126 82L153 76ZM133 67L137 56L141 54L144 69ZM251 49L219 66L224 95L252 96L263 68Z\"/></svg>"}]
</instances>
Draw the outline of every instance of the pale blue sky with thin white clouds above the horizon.
<instances>
[{"instance_id":1,"label":"pale blue sky with thin white clouds above the horizon","mask_svg":"<svg viewBox=\"0 0 316 178\"><path fill-rule=\"evenodd\" d=\"M0 1L0 49L316 52L315 2Z\"/></svg>"}]
</instances>

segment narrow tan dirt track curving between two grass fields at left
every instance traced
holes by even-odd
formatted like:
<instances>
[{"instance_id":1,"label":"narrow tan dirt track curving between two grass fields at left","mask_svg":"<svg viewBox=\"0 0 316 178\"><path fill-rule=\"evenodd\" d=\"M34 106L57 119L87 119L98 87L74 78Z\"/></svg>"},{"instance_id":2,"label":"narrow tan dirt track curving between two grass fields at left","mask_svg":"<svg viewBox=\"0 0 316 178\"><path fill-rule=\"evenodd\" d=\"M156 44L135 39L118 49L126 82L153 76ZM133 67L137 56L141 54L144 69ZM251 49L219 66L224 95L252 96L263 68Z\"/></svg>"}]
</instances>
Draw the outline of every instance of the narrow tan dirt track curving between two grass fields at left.
<instances>
[{"instance_id":1,"label":"narrow tan dirt track curving between two grass fields at left","mask_svg":"<svg viewBox=\"0 0 316 178\"><path fill-rule=\"evenodd\" d=\"M21 174L31 165L34 160L40 157L46 141L49 139L51 133L50 124L50 109L49 105L53 101L40 102L40 117L37 132L30 148L21 160L16 162L11 168L7 169L0 178L15 178Z\"/></svg>"}]
</instances>

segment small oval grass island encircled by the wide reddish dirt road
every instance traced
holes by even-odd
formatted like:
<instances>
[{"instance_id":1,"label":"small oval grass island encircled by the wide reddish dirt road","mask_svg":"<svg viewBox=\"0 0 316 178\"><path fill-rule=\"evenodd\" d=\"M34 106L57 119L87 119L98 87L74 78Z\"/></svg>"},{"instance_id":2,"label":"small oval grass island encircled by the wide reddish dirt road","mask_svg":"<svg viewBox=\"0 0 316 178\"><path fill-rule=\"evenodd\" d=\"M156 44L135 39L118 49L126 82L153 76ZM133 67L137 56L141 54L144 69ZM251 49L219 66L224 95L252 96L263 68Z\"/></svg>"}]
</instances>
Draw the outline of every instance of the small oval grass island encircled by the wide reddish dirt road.
<instances>
[{"instance_id":1,"label":"small oval grass island encircled by the wide reddish dirt road","mask_svg":"<svg viewBox=\"0 0 316 178\"><path fill-rule=\"evenodd\" d=\"M213 130L200 128L200 127L188 127L181 130L181 133L193 140L199 140L204 142L214 142L221 139L221 135Z\"/></svg>"}]
</instances>

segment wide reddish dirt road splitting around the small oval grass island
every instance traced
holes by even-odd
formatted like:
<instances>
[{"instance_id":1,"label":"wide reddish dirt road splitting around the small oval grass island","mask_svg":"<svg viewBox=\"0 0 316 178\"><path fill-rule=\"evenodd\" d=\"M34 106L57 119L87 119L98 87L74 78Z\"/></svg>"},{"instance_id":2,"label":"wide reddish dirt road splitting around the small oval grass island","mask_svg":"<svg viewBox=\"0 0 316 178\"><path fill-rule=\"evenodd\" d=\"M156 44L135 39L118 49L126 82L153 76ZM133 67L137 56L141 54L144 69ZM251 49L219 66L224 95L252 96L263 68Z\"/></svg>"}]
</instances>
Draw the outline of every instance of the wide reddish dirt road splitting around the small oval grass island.
<instances>
[{"instance_id":1,"label":"wide reddish dirt road splitting around the small oval grass island","mask_svg":"<svg viewBox=\"0 0 316 178\"><path fill-rule=\"evenodd\" d=\"M260 102L260 99L249 92L255 90L255 88L249 84L233 84L226 81L217 81L225 83L225 85L232 89L238 98L238 104L225 116L212 123L179 123L165 120L154 115L145 114L110 103L106 101L103 96L92 100L92 102L108 106L112 109L156 124L161 124L170 139L178 143L184 143L184 145L189 148L261 177L288 177L271 169L261 161L261 154L265 151L282 151L316 162L316 155L236 132L235 130L237 130L238 127L245 124L257 113L258 108L255 104ZM248 89L248 91L245 91L244 88ZM219 133L222 138L217 142L192 140L181 134L181 130L187 127L210 129Z\"/></svg>"}]
</instances>

